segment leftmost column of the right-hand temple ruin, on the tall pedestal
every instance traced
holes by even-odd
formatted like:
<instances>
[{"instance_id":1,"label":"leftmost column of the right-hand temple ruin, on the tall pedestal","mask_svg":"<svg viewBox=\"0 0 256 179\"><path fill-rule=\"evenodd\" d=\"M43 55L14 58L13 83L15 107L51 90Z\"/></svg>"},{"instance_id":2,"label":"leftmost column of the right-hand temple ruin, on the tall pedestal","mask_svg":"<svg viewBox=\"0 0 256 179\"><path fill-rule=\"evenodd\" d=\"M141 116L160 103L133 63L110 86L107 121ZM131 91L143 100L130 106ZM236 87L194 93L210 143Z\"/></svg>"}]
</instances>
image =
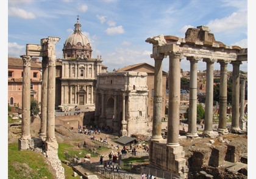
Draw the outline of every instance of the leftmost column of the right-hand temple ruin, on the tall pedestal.
<instances>
[{"instance_id":1,"label":"leftmost column of the right-hand temple ruin, on the tall pedestal","mask_svg":"<svg viewBox=\"0 0 256 179\"><path fill-rule=\"evenodd\" d=\"M152 141L162 140L162 61L165 56L163 53L152 55L155 60L155 76L154 76L154 109L153 109L153 125L152 125Z\"/></svg>"}]
</instances>

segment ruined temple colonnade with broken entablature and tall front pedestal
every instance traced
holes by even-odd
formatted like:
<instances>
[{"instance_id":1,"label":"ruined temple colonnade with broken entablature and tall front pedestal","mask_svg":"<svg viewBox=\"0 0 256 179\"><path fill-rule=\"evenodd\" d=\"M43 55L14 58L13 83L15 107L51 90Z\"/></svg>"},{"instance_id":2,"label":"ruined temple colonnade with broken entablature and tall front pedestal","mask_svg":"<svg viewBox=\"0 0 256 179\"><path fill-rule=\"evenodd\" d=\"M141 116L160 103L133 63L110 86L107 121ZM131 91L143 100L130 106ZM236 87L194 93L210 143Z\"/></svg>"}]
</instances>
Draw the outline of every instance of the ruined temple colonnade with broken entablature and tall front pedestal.
<instances>
[{"instance_id":1,"label":"ruined temple colonnade with broken entablature and tall front pedestal","mask_svg":"<svg viewBox=\"0 0 256 179\"><path fill-rule=\"evenodd\" d=\"M187 178L185 152L179 144L179 107L180 107L180 60L190 62L190 113L187 137L198 137L196 129L197 107L197 62L206 62L206 98L205 98L205 137L217 137L228 133L227 118L227 64L232 64L232 126L233 133L240 132L244 120L240 117L240 64L247 61L247 49L238 46L226 46L216 41L208 27L189 28L185 38L176 36L154 36L146 39L153 45L151 58L155 60L154 116L152 137L149 142L150 163L165 171ZM169 56L169 106L167 140L163 140L162 118L162 61ZM213 64L221 66L219 124L218 132L213 131ZM242 83L244 85L244 83ZM243 90L243 88L241 88ZM243 99L244 100L244 99ZM243 101L242 101L243 103ZM239 113L240 112L240 113Z\"/></svg>"}]
</instances>

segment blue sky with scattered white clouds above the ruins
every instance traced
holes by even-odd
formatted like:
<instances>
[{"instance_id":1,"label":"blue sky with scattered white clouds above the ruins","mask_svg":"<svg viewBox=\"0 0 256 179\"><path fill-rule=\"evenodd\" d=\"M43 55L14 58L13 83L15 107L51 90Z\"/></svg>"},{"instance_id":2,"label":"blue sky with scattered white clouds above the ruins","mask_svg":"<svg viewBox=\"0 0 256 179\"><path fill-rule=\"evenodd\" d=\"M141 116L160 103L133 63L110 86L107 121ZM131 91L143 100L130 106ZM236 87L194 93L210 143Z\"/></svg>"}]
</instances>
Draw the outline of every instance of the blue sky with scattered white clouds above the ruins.
<instances>
[{"instance_id":1,"label":"blue sky with scattered white clouds above the ruins","mask_svg":"<svg viewBox=\"0 0 256 179\"><path fill-rule=\"evenodd\" d=\"M145 40L152 36L185 37L188 27L206 25L216 41L227 46L247 47L247 1L8 1L8 55L19 57L26 52L26 44L40 44L40 39L57 36L57 58L62 58L63 44L73 33L79 15L82 32L88 37L93 58L102 56L108 72L131 64L147 62L152 44ZM163 70L168 72L168 58ZM181 61L183 70L190 63ZM199 61L199 70L205 62ZM219 64L215 63L219 70ZM228 70L232 70L229 64ZM247 71L247 62L240 70Z\"/></svg>"}]
</instances>

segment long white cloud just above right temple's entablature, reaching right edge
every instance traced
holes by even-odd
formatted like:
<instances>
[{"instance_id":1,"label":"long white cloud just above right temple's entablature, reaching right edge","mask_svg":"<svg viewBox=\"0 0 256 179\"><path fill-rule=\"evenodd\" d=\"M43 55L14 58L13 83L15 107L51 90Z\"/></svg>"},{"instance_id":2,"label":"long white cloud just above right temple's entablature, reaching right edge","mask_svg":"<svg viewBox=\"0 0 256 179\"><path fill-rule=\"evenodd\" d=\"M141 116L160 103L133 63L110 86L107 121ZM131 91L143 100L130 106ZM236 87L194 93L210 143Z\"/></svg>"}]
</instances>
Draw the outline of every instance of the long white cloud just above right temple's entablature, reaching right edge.
<instances>
[{"instance_id":1,"label":"long white cloud just above right temple's entablature, reaching right edge","mask_svg":"<svg viewBox=\"0 0 256 179\"><path fill-rule=\"evenodd\" d=\"M222 19L215 19L206 25L211 32L224 32L247 26L247 12L234 12L232 15Z\"/></svg>"}]
</instances>

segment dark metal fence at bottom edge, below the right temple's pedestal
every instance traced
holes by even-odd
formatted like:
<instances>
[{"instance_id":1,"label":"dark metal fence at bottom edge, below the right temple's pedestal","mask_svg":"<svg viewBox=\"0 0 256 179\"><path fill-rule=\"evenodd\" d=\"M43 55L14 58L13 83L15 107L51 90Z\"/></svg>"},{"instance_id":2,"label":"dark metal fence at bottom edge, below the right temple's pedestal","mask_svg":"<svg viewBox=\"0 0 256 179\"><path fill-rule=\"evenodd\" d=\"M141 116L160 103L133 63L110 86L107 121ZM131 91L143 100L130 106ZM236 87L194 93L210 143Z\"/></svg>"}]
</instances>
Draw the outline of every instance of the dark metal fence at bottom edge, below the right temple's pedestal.
<instances>
[{"instance_id":1,"label":"dark metal fence at bottom edge, below the right temple's pedestal","mask_svg":"<svg viewBox=\"0 0 256 179\"><path fill-rule=\"evenodd\" d=\"M144 175L148 175L148 174L154 175L157 178L165 178L165 179L180 178L179 175L172 174L171 172L160 171L160 170L152 169L149 167L141 167L141 173L143 173Z\"/></svg>"}]
</instances>

